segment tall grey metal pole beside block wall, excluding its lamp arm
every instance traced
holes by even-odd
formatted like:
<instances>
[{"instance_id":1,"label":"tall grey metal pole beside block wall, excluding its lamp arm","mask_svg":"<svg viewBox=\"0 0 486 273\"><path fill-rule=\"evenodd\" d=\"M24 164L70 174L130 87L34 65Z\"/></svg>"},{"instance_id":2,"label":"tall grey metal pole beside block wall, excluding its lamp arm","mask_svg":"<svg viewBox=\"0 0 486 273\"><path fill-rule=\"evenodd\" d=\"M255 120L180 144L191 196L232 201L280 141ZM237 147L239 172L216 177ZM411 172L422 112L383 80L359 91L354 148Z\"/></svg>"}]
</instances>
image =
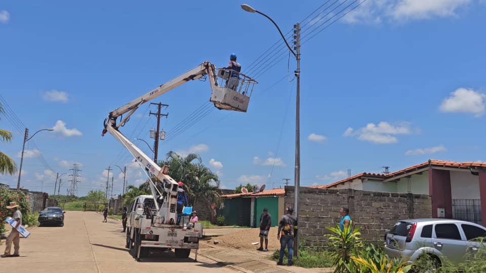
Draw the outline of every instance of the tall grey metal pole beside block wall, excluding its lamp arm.
<instances>
[{"instance_id":1,"label":"tall grey metal pole beside block wall, excluding its lamp arm","mask_svg":"<svg viewBox=\"0 0 486 273\"><path fill-rule=\"evenodd\" d=\"M297 221L299 221L299 192L300 192L300 23L294 25L294 50L297 59L297 69L295 77L297 78L297 95L295 100L295 204L294 211ZM294 241L294 256L299 255L299 236Z\"/></svg>"}]
</instances>

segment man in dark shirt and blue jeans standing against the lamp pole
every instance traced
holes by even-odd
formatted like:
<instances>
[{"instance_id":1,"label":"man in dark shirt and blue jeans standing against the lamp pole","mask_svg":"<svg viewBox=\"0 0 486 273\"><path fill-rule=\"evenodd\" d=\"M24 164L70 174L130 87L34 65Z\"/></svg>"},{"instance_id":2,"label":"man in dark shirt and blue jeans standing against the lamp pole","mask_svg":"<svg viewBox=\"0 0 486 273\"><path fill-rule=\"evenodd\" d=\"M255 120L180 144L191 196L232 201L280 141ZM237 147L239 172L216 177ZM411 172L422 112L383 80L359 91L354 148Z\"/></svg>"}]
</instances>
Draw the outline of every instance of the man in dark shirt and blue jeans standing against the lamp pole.
<instances>
[{"instance_id":1,"label":"man in dark shirt and blue jeans standing against the lamp pole","mask_svg":"<svg viewBox=\"0 0 486 273\"><path fill-rule=\"evenodd\" d=\"M284 252L285 247L289 249L288 263L291 266L292 255L294 254L294 237L297 235L297 218L292 215L294 209L288 207L286 209L286 214L282 215L280 222L278 223L278 234L277 239L280 240L280 258L278 259L277 265L284 265ZM281 235L281 236L280 236Z\"/></svg>"}]
</instances>

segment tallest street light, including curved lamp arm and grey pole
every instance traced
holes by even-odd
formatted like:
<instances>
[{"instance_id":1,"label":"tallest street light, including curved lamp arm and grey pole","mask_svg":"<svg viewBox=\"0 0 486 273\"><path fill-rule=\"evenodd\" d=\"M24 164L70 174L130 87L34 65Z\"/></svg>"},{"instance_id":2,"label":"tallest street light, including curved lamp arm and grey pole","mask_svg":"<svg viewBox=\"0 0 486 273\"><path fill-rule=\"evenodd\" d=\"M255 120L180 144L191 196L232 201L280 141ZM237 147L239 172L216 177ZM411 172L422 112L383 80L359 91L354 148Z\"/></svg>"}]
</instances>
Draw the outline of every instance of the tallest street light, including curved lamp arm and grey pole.
<instances>
[{"instance_id":1,"label":"tallest street light, including curved lamp arm and grey pole","mask_svg":"<svg viewBox=\"0 0 486 273\"><path fill-rule=\"evenodd\" d=\"M251 13L258 13L263 16L265 16L268 20L270 20L278 29L278 32L282 36L282 39L285 41L285 44L287 44L287 47L289 48L289 51L292 52L294 55L296 61L297 61L297 69L294 71L295 77L297 78L297 94L296 94L296 107L295 107L295 197L294 197L294 211L295 211L295 217L299 219L299 190L300 190L300 23L297 23L294 25L294 39L295 39L295 50L294 52L292 48L290 47L289 43L287 42L284 34L280 31L280 28L278 25L275 23L275 21L272 20L272 18L268 17L266 14L259 12L252 8L249 5L243 4L241 5L241 8L247 12ZM299 237L296 236L295 242L294 242L294 256L297 256L299 253Z\"/></svg>"}]
</instances>

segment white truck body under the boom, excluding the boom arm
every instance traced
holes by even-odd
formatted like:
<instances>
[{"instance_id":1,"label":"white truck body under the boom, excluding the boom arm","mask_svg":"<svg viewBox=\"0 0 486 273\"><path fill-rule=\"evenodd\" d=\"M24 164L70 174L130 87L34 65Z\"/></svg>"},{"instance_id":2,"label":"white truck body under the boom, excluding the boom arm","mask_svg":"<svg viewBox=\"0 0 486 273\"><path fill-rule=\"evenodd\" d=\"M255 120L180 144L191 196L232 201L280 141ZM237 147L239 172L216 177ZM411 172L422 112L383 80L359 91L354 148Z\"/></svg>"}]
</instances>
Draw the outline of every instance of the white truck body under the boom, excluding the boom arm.
<instances>
[{"instance_id":1,"label":"white truck body under the boom, excluding the boom arm","mask_svg":"<svg viewBox=\"0 0 486 273\"><path fill-rule=\"evenodd\" d=\"M203 237L203 224L190 223L183 217L180 225L157 224L153 221L155 204L153 196L141 195L135 198L129 210L127 221L126 248L134 258L140 260L150 249L174 249L176 257L187 258L191 249L199 249L199 238Z\"/></svg>"}]
</instances>

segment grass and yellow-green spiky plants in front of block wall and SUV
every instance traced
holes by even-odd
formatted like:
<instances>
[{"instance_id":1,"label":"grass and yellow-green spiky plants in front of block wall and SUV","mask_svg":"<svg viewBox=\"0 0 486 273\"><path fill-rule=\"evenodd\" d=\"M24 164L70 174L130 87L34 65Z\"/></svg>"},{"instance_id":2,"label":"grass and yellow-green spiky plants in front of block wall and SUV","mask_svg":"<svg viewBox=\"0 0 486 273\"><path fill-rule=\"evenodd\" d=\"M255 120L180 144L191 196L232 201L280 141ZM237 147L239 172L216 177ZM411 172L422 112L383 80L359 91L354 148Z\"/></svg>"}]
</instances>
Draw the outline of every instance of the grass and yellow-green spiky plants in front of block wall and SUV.
<instances>
[{"instance_id":1,"label":"grass and yellow-green spiky plants in front of block wall and SUV","mask_svg":"<svg viewBox=\"0 0 486 273\"><path fill-rule=\"evenodd\" d=\"M447 259L443 259L441 266L436 260L424 253L414 263L408 264L407 260L390 258L381 247L377 247L361 238L360 228L346 228L341 231L336 228L326 228L331 234L326 235L328 246L313 249L305 246L299 248L299 256L294 257L296 266L334 267L334 272L363 272L363 273L476 273L486 272L486 238L475 239L482 247L477 251L471 251L464 257L464 262L455 265ZM276 250L270 259L277 261L279 250ZM284 263L287 260L285 251Z\"/></svg>"}]
</instances>

